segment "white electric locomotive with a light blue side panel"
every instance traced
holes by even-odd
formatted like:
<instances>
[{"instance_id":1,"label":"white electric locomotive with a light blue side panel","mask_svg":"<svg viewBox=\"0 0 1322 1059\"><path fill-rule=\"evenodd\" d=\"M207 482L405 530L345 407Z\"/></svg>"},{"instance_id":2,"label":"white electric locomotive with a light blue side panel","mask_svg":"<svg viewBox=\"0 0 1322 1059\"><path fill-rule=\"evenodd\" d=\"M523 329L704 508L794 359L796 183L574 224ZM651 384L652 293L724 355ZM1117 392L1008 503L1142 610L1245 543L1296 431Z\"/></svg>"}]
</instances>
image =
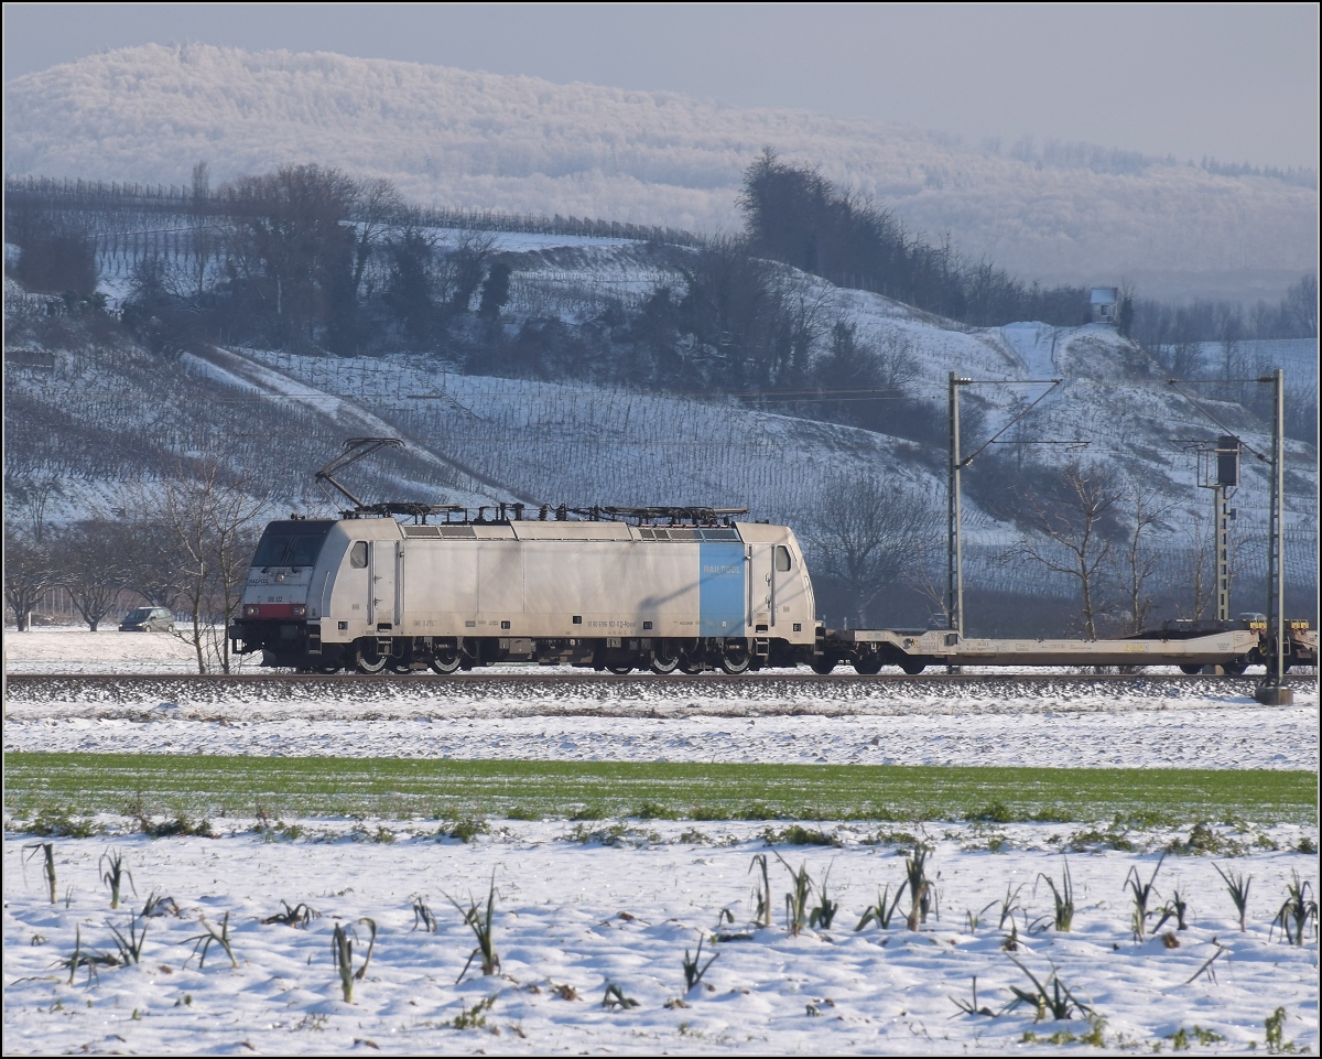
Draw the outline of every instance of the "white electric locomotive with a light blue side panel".
<instances>
[{"instance_id":1,"label":"white electric locomotive with a light blue side panel","mask_svg":"<svg viewBox=\"0 0 1322 1059\"><path fill-rule=\"evenodd\" d=\"M808 661L813 611L785 526L288 520L267 526L230 636L266 665L327 673L742 673Z\"/></svg>"}]
</instances>

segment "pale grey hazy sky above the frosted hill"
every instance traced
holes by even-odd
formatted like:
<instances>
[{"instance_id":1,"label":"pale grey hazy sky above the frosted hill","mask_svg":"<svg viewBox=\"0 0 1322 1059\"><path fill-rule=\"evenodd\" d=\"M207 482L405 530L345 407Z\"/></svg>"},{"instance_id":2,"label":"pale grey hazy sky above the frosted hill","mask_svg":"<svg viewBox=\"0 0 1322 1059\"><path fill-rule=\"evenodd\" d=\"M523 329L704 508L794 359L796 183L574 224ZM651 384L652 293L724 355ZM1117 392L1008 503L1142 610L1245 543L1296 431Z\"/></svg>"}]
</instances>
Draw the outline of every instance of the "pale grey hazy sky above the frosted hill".
<instances>
[{"instance_id":1,"label":"pale grey hazy sky above the frosted hill","mask_svg":"<svg viewBox=\"0 0 1322 1059\"><path fill-rule=\"evenodd\" d=\"M4 79L99 49L529 74L957 134L1318 165L1315 4L4 4Z\"/></svg>"}]
</instances>

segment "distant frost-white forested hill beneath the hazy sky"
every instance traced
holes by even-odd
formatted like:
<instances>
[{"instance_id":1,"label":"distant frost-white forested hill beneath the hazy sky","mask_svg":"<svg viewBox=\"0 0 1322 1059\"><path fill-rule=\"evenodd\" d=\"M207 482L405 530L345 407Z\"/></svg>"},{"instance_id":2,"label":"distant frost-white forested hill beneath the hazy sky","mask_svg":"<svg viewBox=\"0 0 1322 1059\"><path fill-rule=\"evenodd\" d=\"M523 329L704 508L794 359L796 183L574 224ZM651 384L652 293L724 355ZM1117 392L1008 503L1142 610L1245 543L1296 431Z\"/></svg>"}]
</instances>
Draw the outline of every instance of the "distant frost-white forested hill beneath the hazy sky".
<instances>
[{"instance_id":1,"label":"distant frost-white forested hill beneath the hazy sky","mask_svg":"<svg viewBox=\"0 0 1322 1059\"><path fill-rule=\"evenodd\" d=\"M699 231L739 226L743 171L769 145L1026 280L1274 299L1317 256L1317 190L1280 180L325 53L90 56L7 83L4 145L15 175L182 184L200 160L215 178L316 161L420 202Z\"/></svg>"}]
</instances>

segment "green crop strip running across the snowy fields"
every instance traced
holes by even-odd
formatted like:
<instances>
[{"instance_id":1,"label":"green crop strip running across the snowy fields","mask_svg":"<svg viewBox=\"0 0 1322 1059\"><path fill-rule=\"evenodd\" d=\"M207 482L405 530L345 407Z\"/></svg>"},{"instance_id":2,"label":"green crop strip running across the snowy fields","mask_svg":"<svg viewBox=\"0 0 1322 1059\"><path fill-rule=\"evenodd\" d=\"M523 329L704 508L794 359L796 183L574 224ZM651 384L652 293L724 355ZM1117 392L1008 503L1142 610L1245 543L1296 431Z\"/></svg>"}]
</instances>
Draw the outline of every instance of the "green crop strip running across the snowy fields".
<instances>
[{"instance_id":1,"label":"green crop strip running across the snowy fields","mask_svg":"<svg viewBox=\"0 0 1322 1059\"><path fill-rule=\"evenodd\" d=\"M7 754L5 812L188 814L193 818L383 817L518 820L1121 818L1315 824L1317 775L1269 769L945 768L171 758Z\"/></svg>"}]
</instances>

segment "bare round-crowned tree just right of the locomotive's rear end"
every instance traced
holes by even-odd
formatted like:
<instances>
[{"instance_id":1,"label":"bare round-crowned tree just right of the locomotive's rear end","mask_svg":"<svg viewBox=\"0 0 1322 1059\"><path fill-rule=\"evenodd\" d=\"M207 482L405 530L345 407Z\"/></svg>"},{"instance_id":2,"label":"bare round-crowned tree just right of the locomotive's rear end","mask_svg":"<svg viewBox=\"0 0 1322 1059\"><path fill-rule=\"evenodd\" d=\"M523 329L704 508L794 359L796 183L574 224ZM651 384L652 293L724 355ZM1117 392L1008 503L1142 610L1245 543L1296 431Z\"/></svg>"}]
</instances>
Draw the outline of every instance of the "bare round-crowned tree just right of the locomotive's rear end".
<instances>
[{"instance_id":1,"label":"bare round-crowned tree just right of the locomotive's rear end","mask_svg":"<svg viewBox=\"0 0 1322 1059\"><path fill-rule=\"evenodd\" d=\"M814 576L849 599L866 625L883 592L907 586L916 566L936 558L940 512L928 497L873 475L833 473L820 494L804 531Z\"/></svg>"}]
</instances>

